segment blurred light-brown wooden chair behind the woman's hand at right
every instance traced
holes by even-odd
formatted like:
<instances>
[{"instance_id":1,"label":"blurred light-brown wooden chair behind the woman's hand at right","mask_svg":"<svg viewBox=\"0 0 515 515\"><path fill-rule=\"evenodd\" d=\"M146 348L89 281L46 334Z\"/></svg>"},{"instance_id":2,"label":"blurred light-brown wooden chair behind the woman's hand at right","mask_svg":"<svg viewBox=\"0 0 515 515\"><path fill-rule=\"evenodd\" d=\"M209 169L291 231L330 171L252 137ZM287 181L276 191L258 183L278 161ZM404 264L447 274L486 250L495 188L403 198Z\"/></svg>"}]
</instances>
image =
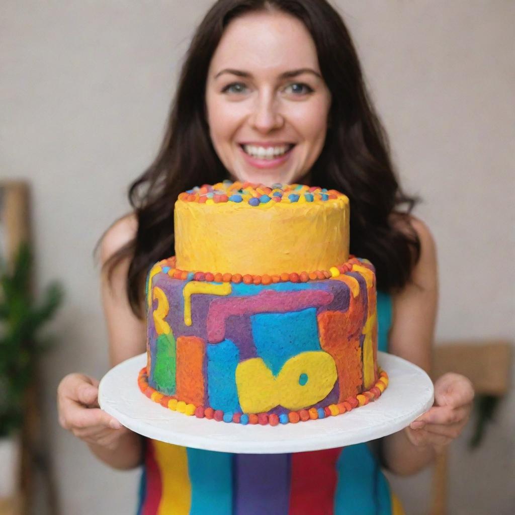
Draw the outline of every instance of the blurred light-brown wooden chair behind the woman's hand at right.
<instances>
[{"instance_id":1,"label":"blurred light-brown wooden chair behind the woman's hand at right","mask_svg":"<svg viewBox=\"0 0 515 515\"><path fill-rule=\"evenodd\" d=\"M446 372L465 375L476 395L502 397L508 391L511 345L507 341L456 341L435 349L433 381ZM448 451L435 462L431 515L447 515Z\"/></svg>"}]
</instances>

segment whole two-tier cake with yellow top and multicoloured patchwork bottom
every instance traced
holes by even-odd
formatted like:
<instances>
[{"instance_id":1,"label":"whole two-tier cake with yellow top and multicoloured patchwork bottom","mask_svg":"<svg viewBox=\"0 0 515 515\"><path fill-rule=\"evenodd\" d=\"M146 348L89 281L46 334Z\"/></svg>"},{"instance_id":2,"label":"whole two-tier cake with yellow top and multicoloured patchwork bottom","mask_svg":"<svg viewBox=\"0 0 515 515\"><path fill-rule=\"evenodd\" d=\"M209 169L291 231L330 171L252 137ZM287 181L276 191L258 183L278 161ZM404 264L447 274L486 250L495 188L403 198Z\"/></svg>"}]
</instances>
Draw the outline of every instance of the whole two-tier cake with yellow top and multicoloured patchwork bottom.
<instances>
[{"instance_id":1,"label":"whole two-tier cake with yellow top and multicoloured patchwork bottom","mask_svg":"<svg viewBox=\"0 0 515 515\"><path fill-rule=\"evenodd\" d=\"M176 256L147 280L147 397L242 424L335 416L379 397L375 274L349 256L349 201L224 182L179 196Z\"/></svg>"}]
</instances>

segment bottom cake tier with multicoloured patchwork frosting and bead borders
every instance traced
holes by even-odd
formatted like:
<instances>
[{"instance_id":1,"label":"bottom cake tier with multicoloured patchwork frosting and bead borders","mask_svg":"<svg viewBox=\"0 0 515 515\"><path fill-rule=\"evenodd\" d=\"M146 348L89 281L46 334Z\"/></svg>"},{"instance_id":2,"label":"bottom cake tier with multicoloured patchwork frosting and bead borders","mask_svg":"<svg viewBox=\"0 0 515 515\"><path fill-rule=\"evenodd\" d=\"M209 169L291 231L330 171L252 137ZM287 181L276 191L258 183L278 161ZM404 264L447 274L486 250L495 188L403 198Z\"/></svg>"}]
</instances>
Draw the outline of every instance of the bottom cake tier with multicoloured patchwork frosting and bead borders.
<instances>
[{"instance_id":1,"label":"bottom cake tier with multicoloured patchwork frosting and bead borders","mask_svg":"<svg viewBox=\"0 0 515 515\"><path fill-rule=\"evenodd\" d=\"M140 389L186 415L279 423L335 416L379 397L375 275L366 260L281 276L187 272L147 284Z\"/></svg>"}]
</instances>

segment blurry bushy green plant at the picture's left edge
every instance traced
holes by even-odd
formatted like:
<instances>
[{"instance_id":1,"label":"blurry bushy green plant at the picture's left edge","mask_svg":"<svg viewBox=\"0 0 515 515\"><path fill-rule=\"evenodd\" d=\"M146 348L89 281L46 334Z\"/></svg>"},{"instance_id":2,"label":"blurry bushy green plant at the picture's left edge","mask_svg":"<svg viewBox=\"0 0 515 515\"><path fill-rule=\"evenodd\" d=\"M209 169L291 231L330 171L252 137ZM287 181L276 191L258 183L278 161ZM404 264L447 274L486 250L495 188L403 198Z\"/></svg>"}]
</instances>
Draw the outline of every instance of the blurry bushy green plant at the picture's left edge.
<instances>
[{"instance_id":1,"label":"blurry bushy green plant at the picture's left edge","mask_svg":"<svg viewBox=\"0 0 515 515\"><path fill-rule=\"evenodd\" d=\"M54 282L36 301L31 291L32 252L20 245L9 266L0 258L0 436L23 422L23 399L38 358L52 343L41 335L43 325L59 307L62 287Z\"/></svg>"}]
</instances>

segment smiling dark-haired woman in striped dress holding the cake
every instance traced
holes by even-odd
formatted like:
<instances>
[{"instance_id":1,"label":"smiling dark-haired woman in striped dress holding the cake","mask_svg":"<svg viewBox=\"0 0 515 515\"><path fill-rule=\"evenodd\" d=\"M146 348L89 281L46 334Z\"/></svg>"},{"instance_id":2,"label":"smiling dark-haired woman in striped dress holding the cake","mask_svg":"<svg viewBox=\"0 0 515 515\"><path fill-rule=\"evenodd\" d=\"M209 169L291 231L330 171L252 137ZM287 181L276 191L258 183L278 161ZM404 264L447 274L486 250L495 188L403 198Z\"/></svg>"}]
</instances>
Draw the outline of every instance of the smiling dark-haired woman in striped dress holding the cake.
<instances>
[{"instance_id":1,"label":"smiling dark-haired woman in striped dress holding the cake","mask_svg":"<svg viewBox=\"0 0 515 515\"><path fill-rule=\"evenodd\" d=\"M113 366L145 351L144 280L153 263L174 253L174 200L194 185L225 178L311 183L347 194L351 253L376 268L380 349L430 369L437 303L433 238L409 214L415 201L393 174L349 33L322 0L219 0L197 29L160 153L131 186L134 212L101 240ZM289 478L288 491L267 485L264 473L253 489L232 492L229 500L214 477L204 490L165 499L156 470L166 469L174 484L175 446L145 442L122 427L98 408L97 386L83 374L66 376L58 390L60 422L112 467L132 468L145 459L142 513L173 506L181 513L207 512L207 502L210 513L400 513L379 460L398 474L420 470L460 434L473 397L465 377L441 377L435 406L409 427L375 449L362 444L309 453L318 477L314 473L307 484ZM204 453L200 459L209 459ZM273 466L272 457L254 460L256 468ZM334 482L317 487L324 474ZM152 495L156 484L160 494Z\"/></svg>"}]
</instances>

